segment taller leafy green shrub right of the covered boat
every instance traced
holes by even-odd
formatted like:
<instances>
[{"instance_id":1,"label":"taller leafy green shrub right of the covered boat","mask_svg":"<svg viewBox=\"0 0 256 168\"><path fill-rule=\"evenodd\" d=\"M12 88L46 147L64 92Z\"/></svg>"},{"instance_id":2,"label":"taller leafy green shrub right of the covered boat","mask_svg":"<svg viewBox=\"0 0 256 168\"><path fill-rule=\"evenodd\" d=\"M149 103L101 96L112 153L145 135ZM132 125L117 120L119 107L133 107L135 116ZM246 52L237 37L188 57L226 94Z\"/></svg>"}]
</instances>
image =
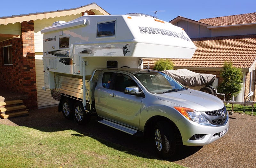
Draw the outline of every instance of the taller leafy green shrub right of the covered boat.
<instances>
[{"instance_id":1,"label":"taller leafy green shrub right of the covered boat","mask_svg":"<svg viewBox=\"0 0 256 168\"><path fill-rule=\"evenodd\" d=\"M227 100L230 96L237 96L242 88L243 74L240 68L232 66L232 62L225 62L223 65L223 71L220 73L223 78L223 82L218 87L218 91L225 93Z\"/></svg>"}]
</instances>

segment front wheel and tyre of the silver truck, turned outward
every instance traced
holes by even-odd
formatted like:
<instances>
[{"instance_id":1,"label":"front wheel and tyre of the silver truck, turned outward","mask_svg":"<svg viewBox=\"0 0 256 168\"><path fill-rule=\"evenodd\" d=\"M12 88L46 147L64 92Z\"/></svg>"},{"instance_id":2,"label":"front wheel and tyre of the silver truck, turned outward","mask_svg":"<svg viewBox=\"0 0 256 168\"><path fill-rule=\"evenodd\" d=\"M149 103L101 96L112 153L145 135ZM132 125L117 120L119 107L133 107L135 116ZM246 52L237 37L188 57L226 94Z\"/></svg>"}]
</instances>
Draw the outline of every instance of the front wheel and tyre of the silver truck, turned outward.
<instances>
[{"instance_id":1,"label":"front wheel and tyre of the silver truck, turned outward","mask_svg":"<svg viewBox=\"0 0 256 168\"><path fill-rule=\"evenodd\" d=\"M154 127L153 144L158 155L169 158L176 149L176 135L167 122L157 122Z\"/></svg>"}]
</instances>

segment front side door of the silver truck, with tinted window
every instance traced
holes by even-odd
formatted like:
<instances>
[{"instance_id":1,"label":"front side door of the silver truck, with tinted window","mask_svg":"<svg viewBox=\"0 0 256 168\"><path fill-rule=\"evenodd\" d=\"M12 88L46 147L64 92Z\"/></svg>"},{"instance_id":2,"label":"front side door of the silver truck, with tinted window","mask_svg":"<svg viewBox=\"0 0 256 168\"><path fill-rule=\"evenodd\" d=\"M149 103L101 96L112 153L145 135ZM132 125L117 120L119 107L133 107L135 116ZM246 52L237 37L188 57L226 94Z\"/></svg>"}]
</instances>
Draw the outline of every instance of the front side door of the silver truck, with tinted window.
<instances>
[{"instance_id":1,"label":"front side door of the silver truck, with tinted window","mask_svg":"<svg viewBox=\"0 0 256 168\"><path fill-rule=\"evenodd\" d=\"M142 97L124 94L127 86L137 86L137 84L130 76L116 73L114 83L107 93L109 119L139 128Z\"/></svg>"}]
</instances>

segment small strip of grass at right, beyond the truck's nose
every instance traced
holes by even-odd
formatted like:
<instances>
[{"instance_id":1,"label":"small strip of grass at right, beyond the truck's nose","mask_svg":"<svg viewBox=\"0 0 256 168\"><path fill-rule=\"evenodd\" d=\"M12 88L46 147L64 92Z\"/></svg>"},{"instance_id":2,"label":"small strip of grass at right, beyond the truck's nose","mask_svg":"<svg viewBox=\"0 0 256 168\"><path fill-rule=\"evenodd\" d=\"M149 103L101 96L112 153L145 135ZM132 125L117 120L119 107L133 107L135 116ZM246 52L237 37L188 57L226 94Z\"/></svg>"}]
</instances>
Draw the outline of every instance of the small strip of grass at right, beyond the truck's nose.
<instances>
[{"instance_id":1,"label":"small strip of grass at right, beyond the truck's nose","mask_svg":"<svg viewBox=\"0 0 256 168\"><path fill-rule=\"evenodd\" d=\"M232 104L225 104L228 112L232 111ZM252 115L252 106L244 106L240 104L234 104L233 112ZM253 116L256 116L256 106L253 106Z\"/></svg>"}]
</instances>

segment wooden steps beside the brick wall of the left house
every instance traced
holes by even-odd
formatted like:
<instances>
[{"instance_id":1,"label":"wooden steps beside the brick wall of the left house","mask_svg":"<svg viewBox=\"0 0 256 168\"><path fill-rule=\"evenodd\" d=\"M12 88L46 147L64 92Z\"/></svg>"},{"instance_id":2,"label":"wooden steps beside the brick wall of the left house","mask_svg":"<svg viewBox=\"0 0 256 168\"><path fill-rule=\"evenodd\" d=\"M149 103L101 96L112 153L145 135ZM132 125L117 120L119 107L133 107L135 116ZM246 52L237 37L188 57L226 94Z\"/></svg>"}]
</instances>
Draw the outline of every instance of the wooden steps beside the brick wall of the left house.
<instances>
[{"instance_id":1,"label":"wooden steps beside the brick wall of the left house","mask_svg":"<svg viewBox=\"0 0 256 168\"><path fill-rule=\"evenodd\" d=\"M23 100L0 101L0 117L10 118L16 116L27 116L29 112L23 105Z\"/></svg>"}]
</instances>

